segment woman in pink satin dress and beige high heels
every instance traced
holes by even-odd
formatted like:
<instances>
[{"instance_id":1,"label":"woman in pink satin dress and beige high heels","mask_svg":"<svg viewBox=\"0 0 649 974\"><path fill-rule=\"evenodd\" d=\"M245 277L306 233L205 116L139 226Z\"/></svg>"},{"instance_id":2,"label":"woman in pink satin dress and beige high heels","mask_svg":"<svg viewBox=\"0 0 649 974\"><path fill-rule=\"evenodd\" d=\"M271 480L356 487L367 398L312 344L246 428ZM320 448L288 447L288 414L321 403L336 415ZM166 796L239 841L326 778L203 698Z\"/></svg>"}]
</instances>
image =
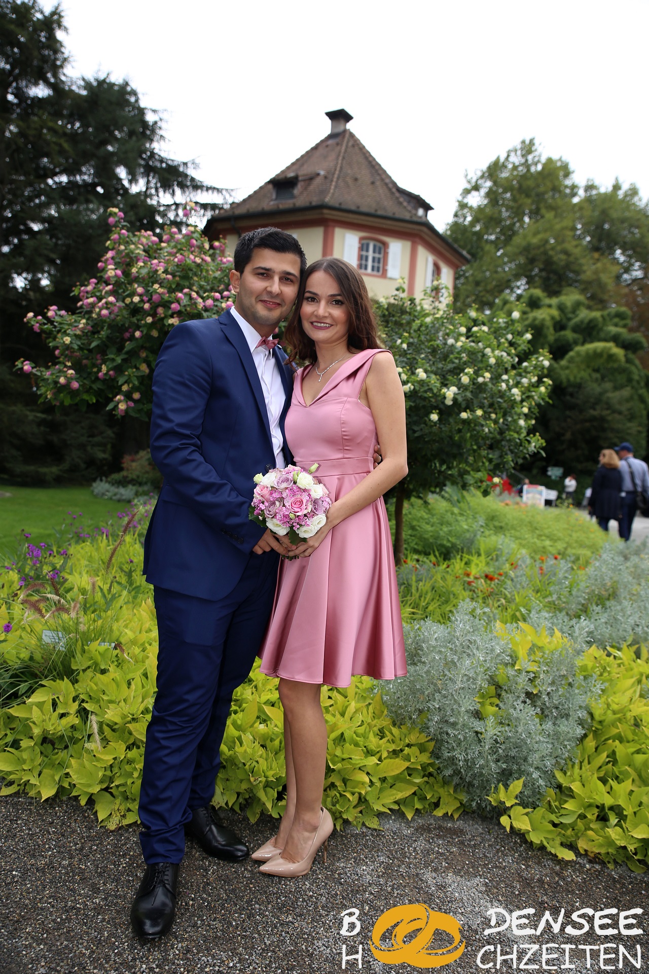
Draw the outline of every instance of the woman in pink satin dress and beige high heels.
<instances>
[{"instance_id":1,"label":"woman in pink satin dress and beige high heels","mask_svg":"<svg viewBox=\"0 0 649 974\"><path fill-rule=\"evenodd\" d=\"M283 560L262 671L279 677L284 710L286 810L253 858L261 872L302 876L333 830L322 808L327 730L320 688L353 675L406 673L399 593L382 495L408 472L406 407L361 275L326 257L306 269L286 329L295 376L286 441L295 463L319 467L327 522ZM382 462L374 469L380 443Z\"/></svg>"}]
</instances>

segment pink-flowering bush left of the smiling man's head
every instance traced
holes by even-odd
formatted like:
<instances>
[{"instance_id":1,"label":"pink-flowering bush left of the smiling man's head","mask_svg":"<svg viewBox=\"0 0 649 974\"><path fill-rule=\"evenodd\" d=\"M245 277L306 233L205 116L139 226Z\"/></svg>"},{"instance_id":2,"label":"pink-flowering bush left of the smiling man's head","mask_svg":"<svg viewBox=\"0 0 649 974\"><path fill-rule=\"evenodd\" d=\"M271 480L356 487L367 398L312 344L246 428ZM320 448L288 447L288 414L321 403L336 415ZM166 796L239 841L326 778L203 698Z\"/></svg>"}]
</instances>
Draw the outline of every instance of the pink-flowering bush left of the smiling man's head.
<instances>
[{"instance_id":1,"label":"pink-flowering bush left of the smiling man's head","mask_svg":"<svg viewBox=\"0 0 649 974\"><path fill-rule=\"evenodd\" d=\"M183 215L191 219L194 208L188 204ZM74 289L78 310L68 314L53 305L25 318L54 360L39 366L20 358L16 368L42 401L82 410L103 401L118 417L147 420L151 371L164 338L179 321L218 318L232 307L232 259L223 242L208 243L191 222L156 236L131 231L115 207L108 214L108 251L96 278Z\"/></svg>"}]
</instances>

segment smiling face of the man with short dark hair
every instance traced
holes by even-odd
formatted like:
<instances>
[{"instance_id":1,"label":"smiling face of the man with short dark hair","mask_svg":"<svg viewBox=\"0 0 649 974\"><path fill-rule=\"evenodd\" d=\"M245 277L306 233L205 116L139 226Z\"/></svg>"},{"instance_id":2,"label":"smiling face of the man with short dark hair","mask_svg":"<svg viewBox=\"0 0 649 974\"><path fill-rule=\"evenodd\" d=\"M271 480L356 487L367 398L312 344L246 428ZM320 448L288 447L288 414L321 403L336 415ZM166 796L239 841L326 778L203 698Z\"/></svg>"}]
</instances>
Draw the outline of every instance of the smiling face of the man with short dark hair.
<instances>
[{"instance_id":1,"label":"smiling face of the man with short dark hair","mask_svg":"<svg viewBox=\"0 0 649 974\"><path fill-rule=\"evenodd\" d=\"M260 335L271 335L295 304L300 284L300 258L255 247L243 273L230 272L236 310Z\"/></svg>"}]
</instances>

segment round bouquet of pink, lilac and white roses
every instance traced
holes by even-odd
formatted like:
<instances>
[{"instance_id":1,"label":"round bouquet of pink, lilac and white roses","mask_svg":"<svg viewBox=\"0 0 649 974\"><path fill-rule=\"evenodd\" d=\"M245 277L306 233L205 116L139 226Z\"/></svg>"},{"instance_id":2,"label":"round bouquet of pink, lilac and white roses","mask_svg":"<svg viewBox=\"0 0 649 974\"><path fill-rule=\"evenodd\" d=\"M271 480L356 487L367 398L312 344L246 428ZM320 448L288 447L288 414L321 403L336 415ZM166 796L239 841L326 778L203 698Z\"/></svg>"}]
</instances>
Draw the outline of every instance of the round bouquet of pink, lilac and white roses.
<instances>
[{"instance_id":1,"label":"round bouquet of pink, lilac and white roses","mask_svg":"<svg viewBox=\"0 0 649 974\"><path fill-rule=\"evenodd\" d=\"M332 505L327 488L311 476L317 468L289 466L258 473L250 520L275 535L288 535L293 544L311 538L324 526Z\"/></svg>"}]
</instances>

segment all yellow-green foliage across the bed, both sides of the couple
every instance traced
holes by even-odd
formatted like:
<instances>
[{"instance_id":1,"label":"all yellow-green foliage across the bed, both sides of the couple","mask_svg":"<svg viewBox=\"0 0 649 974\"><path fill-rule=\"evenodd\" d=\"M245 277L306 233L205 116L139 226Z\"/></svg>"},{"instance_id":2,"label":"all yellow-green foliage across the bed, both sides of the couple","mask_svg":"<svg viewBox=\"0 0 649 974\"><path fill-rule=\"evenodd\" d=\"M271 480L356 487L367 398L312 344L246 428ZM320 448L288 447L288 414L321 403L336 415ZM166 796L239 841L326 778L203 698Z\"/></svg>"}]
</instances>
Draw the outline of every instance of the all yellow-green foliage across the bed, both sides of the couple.
<instances>
[{"instance_id":1,"label":"all yellow-green foliage across the bed, both sides of the couple","mask_svg":"<svg viewBox=\"0 0 649 974\"><path fill-rule=\"evenodd\" d=\"M56 589L49 582L31 589L21 586L20 573L38 576L33 566L18 564L2 574L0 775L2 794L22 791L42 800L75 796L82 804L91 799L99 821L115 828L137 819L145 732L155 694L157 630L151 589L140 576L140 538L126 534L106 571L110 555L107 538L74 543L62 564L64 581ZM557 569L559 581L546 581L549 570L541 569L550 560L525 569L537 600L550 599L553 585L568 578L566 565ZM477 611L498 612L512 598L509 589L499 586L506 586L508 578L514 584L520 576L512 591L523 591L527 578L521 575L523 565L517 567L504 556L502 561L501 569L495 563L469 569L465 555L451 558L440 566L450 580L449 597L452 593L455 600L466 593ZM576 566L575 579L588 581L588 573L579 571ZM408 599L413 593L408 594L410 581L405 582ZM434 573L425 583L436 597L447 591ZM450 618L448 607L438 608L436 618ZM497 637L503 649L496 655L505 663L499 663L495 677L488 676L487 641L481 642L477 633L476 653L484 657L486 678L477 691L471 689L470 699L456 701L456 709L460 704L465 708L467 727L479 742L489 738L489 746L496 746L497 722L508 719L508 694L523 686L524 672L536 667L529 684L530 727L534 712L544 721L542 711L534 711L541 687L537 674L540 678L544 667L558 678L561 672L564 641L558 632L534 629L513 615L508 621L507 628L487 633L488 645ZM430 638L441 652L444 633L433 632ZM533 652L526 649L528 644ZM549 670L551 663L555 668ZM556 768L556 785L530 808L519 801L523 782L507 778L494 786L490 801L499 807L506 828L559 856L572 858L578 850L599 855L610 865L626 862L643 870L649 862L649 658L644 649L594 647L581 654L579 667L597 681L591 722L574 754ZM461 681L455 683L461 690ZM424 733L425 715L421 723L415 719L410 724L390 717L376 686L362 677L348 689L323 689L322 699L329 733L324 801L339 826L347 821L379 827L379 812L393 810L409 817L415 811L454 817L462 812L468 799L453 785L451 769L444 767L441 738L436 747ZM385 701L389 705L389 693ZM216 805L245 811L253 821L262 813L281 813L281 730L276 682L255 667L234 696ZM469 741L466 728L462 732Z\"/></svg>"}]
</instances>

